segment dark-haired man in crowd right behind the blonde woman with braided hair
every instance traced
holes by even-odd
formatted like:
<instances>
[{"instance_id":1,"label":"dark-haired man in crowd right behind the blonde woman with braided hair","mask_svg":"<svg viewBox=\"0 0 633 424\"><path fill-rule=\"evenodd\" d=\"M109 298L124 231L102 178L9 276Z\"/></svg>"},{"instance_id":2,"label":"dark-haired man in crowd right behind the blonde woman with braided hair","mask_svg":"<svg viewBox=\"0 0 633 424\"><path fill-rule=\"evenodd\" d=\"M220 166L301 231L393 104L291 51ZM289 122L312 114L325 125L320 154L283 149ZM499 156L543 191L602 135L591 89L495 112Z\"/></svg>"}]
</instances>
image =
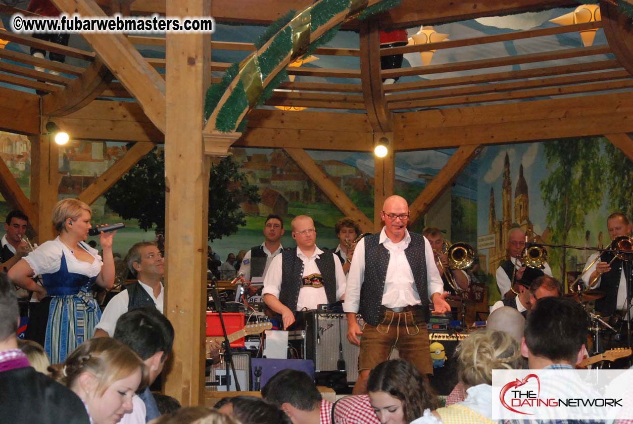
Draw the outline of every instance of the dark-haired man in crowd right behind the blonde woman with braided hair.
<instances>
[{"instance_id":1,"label":"dark-haired man in crowd right behind the blonde woman with braided hair","mask_svg":"<svg viewBox=\"0 0 633 424\"><path fill-rule=\"evenodd\" d=\"M134 410L125 414L120 424L142 424L160 416L149 386L163 371L172 351L173 335L172 323L153 306L128 311L116 321L113 338L127 344L141 357L149 375L144 392L132 398Z\"/></svg>"}]
</instances>

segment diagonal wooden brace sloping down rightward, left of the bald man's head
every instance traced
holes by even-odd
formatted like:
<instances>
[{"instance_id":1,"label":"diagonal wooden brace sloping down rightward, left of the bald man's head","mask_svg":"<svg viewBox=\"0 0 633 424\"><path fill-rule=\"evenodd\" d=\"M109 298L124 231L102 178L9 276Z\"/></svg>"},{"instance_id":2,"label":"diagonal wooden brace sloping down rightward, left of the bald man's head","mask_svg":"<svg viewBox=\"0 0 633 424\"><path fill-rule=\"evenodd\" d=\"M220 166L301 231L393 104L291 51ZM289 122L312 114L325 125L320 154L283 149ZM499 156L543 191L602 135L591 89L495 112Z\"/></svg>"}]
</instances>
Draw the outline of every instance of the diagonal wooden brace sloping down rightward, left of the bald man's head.
<instances>
[{"instance_id":1,"label":"diagonal wooden brace sloping down rightward, left of the bald man's head","mask_svg":"<svg viewBox=\"0 0 633 424\"><path fill-rule=\"evenodd\" d=\"M336 205L341 212L356 220L361 231L372 231L373 224L356 205L349 200L349 197L316 165L304 149L286 148L286 153L296 162L296 164L310 177L313 182L325 193L325 195Z\"/></svg>"}]
</instances>

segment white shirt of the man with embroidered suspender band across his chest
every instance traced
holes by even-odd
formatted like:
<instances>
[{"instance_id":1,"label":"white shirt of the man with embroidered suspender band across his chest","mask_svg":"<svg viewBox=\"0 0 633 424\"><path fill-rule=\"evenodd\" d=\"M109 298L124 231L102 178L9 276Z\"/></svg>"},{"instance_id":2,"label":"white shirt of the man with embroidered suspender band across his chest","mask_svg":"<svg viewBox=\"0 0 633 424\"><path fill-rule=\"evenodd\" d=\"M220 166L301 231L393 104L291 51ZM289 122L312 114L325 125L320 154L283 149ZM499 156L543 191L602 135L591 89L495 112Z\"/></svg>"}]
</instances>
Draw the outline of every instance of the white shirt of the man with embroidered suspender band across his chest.
<instances>
[{"instance_id":1,"label":"white shirt of the man with embroidered suspender band across his chest","mask_svg":"<svg viewBox=\"0 0 633 424\"><path fill-rule=\"evenodd\" d=\"M297 248L297 257L303 262L303 277L311 274L320 274L315 259L320 258L322 254L331 254L334 256L334 271L336 275L336 299L341 299L345 293L345 274L341 266L341 260L334 253L323 253L321 249L315 246L315 251L310 258L304 255L301 249ZM264 278L264 288L261 290L261 296L272 294L279 299L282 277L282 255L277 255L270 263L266 278ZM319 304L329 303L325 294L325 287L301 287L299 290L299 298L297 299L297 310L316 309Z\"/></svg>"}]
</instances>

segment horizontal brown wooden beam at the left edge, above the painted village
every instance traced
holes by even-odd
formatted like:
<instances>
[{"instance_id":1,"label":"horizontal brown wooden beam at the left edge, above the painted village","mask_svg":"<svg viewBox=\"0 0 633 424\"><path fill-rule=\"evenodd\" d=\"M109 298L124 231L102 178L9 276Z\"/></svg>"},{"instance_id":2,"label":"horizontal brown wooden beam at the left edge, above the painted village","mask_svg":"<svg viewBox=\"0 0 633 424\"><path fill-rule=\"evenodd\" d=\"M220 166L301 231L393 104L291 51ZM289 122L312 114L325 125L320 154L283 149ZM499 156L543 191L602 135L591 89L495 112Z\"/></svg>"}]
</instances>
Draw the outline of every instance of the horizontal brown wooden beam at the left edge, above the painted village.
<instances>
[{"instance_id":1,"label":"horizontal brown wooden beam at the left edge, above the painted village","mask_svg":"<svg viewBox=\"0 0 633 424\"><path fill-rule=\"evenodd\" d=\"M39 96L0 87L0 130L16 134L40 133Z\"/></svg>"}]
</instances>

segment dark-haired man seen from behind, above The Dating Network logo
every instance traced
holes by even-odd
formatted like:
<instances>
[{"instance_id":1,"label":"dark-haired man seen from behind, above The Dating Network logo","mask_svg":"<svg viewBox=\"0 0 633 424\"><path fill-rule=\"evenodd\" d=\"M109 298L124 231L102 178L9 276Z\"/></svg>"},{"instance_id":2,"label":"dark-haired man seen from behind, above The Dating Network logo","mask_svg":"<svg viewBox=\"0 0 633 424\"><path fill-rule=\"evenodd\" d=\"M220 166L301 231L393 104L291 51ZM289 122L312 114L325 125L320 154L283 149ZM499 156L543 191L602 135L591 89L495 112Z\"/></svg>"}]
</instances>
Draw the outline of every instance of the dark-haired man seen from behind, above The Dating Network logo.
<instances>
[{"instance_id":1,"label":"dark-haired man seen from behind, above The Dating Network logo","mask_svg":"<svg viewBox=\"0 0 633 424\"><path fill-rule=\"evenodd\" d=\"M564 297L543 297L536 301L525 320L521 353L531 370L573 370L587 356L585 343L589 318L578 302ZM585 382L569 373L564 382L558 379L541 380L541 393L558 399L593 397ZM580 405L578 408L583 408ZM588 414L586 414L589 416ZM598 424L594 420L509 420L506 424L559 423Z\"/></svg>"}]
</instances>

